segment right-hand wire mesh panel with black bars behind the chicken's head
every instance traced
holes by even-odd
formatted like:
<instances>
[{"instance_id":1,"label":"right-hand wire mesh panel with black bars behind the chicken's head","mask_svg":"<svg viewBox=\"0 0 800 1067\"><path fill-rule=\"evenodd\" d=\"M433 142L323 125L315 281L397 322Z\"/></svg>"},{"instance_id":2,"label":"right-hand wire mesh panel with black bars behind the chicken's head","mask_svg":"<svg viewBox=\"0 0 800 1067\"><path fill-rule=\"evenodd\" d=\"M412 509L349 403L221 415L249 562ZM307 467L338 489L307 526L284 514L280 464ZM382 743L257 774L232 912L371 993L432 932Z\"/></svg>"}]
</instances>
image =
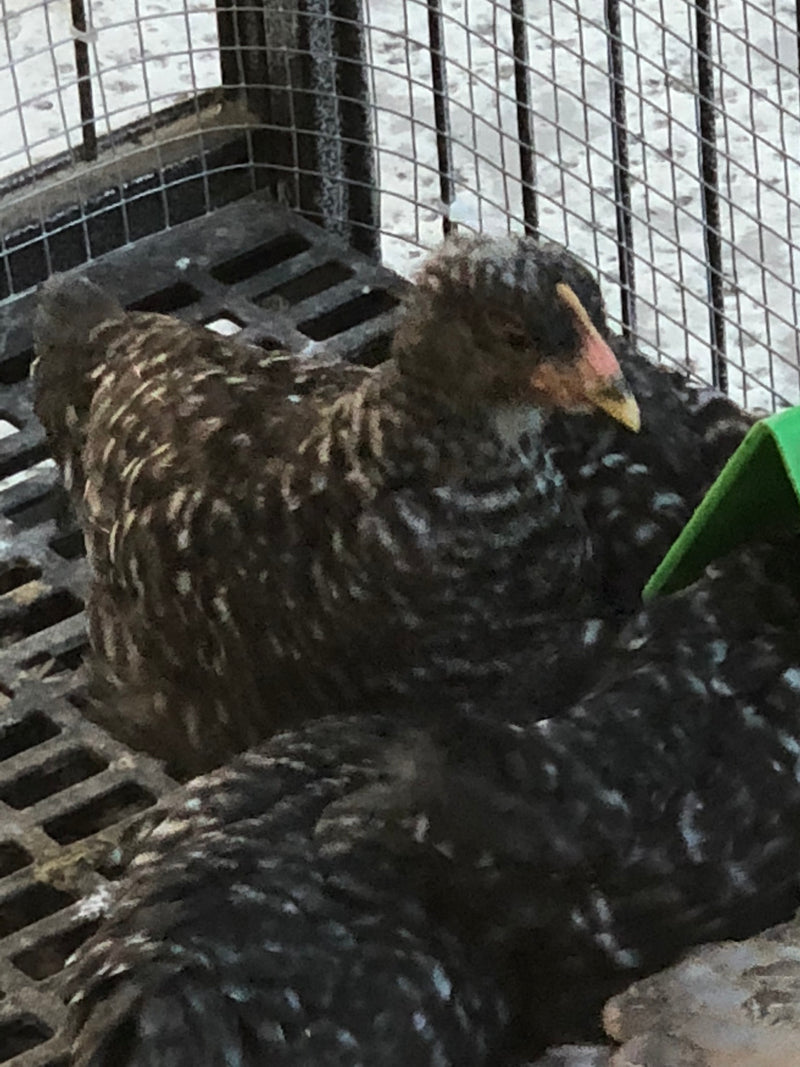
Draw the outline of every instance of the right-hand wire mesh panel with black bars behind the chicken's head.
<instances>
[{"instance_id":1,"label":"right-hand wire mesh panel with black bars behind the chicken's head","mask_svg":"<svg viewBox=\"0 0 800 1067\"><path fill-rule=\"evenodd\" d=\"M599 267L645 351L797 401L795 4L365 3L393 266L437 210L527 227Z\"/></svg>"}]
</instances>

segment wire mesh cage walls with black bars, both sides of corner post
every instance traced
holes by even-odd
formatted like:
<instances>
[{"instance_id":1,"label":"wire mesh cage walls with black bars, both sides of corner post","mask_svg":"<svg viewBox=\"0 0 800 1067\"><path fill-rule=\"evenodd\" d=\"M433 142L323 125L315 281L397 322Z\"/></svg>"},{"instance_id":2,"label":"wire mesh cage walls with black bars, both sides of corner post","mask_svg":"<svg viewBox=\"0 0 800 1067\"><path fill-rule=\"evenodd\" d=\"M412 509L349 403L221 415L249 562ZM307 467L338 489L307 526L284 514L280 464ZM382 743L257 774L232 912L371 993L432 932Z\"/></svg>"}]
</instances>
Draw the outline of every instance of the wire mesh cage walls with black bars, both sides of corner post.
<instances>
[{"instance_id":1,"label":"wire mesh cage walls with black bars, both sides of corner post","mask_svg":"<svg viewBox=\"0 0 800 1067\"><path fill-rule=\"evenodd\" d=\"M5 292L266 186L404 274L452 224L563 241L650 354L800 398L795 3L3 11Z\"/></svg>"}]
</instances>

